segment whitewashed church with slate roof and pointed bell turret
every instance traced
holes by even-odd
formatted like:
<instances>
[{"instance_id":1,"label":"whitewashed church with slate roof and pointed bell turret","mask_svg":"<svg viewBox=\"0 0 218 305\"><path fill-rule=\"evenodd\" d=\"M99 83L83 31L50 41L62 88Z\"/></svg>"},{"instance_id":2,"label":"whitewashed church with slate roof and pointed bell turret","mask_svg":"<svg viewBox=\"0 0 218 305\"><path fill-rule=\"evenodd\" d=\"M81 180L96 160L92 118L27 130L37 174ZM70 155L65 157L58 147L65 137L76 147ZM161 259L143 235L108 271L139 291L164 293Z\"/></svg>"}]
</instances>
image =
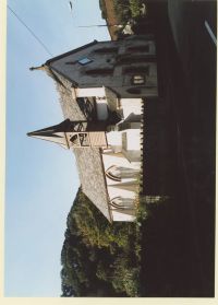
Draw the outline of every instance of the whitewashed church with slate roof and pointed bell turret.
<instances>
[{"instance_id":1,"label":"whitewashed church with slate roof and pointed bell turret","mask_svg":"<svg viewBox=\"0 0 218 305\"><path fill-rule=\"evenodd\" d=\"M28 136L72 149L84 193L110 221L134 221L142 104L158 97L154 38L96 42L31 70L57 85L64 121Z\"/></svg>"}]
</instances>

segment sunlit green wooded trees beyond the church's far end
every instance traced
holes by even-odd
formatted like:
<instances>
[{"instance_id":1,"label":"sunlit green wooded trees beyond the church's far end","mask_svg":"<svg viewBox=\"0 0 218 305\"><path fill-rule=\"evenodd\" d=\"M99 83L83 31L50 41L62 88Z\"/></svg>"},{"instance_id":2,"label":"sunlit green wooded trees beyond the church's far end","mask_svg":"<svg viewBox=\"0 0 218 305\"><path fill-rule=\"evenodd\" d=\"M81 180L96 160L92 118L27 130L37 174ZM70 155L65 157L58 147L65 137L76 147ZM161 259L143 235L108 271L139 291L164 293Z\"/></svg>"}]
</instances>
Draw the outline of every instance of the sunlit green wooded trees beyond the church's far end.
<instances>
[{"instance_id":1,"label":"sunlit green wooded trees beyond the church's far end","mask_svg":"<svg viewBox=\"0 0 218 305\"><path fill-rule=\"evenodd\" d=\"M138 223L110 224L78 189L61 251L62 296L138 296Z\"/></svg>"}]
</instances>

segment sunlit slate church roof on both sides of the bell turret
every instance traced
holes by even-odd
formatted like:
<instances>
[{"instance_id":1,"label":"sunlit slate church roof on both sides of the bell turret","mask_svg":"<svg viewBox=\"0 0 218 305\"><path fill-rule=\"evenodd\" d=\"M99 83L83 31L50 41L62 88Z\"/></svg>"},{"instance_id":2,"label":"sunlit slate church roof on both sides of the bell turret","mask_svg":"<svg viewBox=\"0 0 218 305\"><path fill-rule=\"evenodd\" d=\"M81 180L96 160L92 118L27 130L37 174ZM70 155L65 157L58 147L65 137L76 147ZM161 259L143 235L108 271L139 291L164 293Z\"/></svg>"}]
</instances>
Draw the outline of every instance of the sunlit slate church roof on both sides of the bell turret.
<instances>
[{"instance_id":1,"label":"sunlit slate church roof on both sides of the bell turret","mask_svg":"<svg viewBox=\"0 0 218 305\"><path fill-rule=\"evenodd\" d=\"M46 69L47 73L55 79L56 86L60 95L60 104L64 118L70 120L86 119L81 112L76 101L73 101L71 93L71 82L61 77L58 72ZM100 212L111 222L109 210L108 191L102 171L102 159L98 148L74 149L78 176L83 192L100 210Z\"/></svg>"}]
</instances>

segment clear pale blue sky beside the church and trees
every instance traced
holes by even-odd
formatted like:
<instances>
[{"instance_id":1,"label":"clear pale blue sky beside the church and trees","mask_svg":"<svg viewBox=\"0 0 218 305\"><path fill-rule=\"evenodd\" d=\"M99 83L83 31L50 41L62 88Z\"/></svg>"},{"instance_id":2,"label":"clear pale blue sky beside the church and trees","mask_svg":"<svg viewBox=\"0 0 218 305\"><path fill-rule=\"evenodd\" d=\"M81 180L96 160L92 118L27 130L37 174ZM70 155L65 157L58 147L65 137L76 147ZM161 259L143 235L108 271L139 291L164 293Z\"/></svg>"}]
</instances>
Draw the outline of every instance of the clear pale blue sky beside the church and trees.
<instances>
[{"instance_id":1,"label":"clear pale blue sky beside the church and trees","mask_svg":"<svg viewBox=\"0 0 218 305\"><path fill-rule=\"evenodd\" d=\"M98 0L10 0L53 56L108 40ZM80 186L72 152L26 137L63 120L53 81L28 70L50 56L8 10L5 296L60 296L66 215Z\"/></svg>"}]
</instances>

